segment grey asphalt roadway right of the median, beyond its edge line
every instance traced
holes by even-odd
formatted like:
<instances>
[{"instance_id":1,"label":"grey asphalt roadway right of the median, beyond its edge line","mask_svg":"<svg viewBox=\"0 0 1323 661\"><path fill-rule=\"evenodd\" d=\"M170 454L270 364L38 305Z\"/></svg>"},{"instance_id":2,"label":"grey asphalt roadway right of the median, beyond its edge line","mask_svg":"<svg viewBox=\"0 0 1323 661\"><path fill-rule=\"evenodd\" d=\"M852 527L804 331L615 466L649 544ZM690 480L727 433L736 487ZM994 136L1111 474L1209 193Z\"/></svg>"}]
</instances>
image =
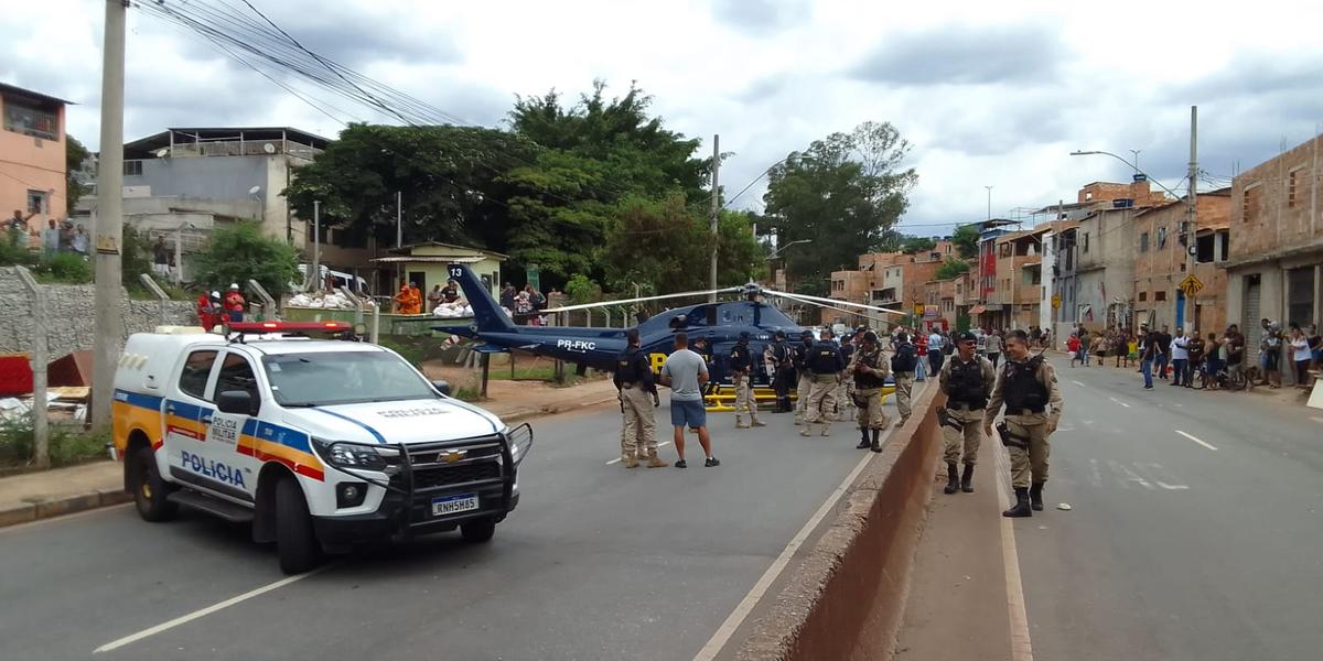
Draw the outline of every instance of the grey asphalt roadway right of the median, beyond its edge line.
<instances>
[{"instance_id":1,"label":"grey asphalt roadway right of the median, beyond its edge line","mask_svg":"<svg viewBox=\"0 0 1323 661\"><path fill-rule=\"evenodd\" d=\"M1035 658L1318 658L1323 411L1053 362L1048 510L1015 522Z\"/></svg>"}]
</instances>

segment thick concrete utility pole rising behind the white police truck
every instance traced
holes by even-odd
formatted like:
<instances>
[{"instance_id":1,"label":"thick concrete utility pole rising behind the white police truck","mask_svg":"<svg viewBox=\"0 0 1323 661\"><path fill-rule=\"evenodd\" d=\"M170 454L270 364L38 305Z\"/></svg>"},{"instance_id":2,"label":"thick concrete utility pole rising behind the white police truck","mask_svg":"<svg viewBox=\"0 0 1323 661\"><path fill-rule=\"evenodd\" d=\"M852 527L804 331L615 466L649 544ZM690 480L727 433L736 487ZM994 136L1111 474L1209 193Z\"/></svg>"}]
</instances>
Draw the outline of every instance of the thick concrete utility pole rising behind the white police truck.
<instances>
[{"instance_id":1,"label":"thick concrete utility pole rising behind the white police truck","mask_svg":"<svg viewBox=\"0 0 1323 661\"><path fill-rule=\"evenodd\" d=\"M93 338L91 427L110 427L115 366L124 341L119 246L124 234L124 0L106 0L101 71L101 157L97 168L97 313ZM42 365L42 369L45 366Z\"/></svg>"}]
</instances>

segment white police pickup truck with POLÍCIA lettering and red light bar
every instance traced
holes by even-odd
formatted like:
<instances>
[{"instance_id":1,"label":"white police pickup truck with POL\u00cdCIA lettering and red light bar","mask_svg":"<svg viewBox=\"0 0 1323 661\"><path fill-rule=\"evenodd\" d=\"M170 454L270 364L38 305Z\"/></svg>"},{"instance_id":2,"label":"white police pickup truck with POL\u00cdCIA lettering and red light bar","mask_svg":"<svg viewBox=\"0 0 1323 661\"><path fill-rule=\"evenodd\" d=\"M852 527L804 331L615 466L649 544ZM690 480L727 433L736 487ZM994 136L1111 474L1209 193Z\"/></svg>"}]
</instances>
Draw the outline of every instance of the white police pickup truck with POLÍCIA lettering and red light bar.
<instances>
[{"instance_id":1,"label":"white police pickup truck with POL\u00cdCIA lettering and red light bar","mask_svg":"<svg viewBox=\"0 0 1323 661\"><path fill-rule=\"evenodd\" d=\"M356 542L459 527L519 504L533 432L448 397L344 323L135 333L115 371L114 448L147 521L187 506L251 522L288 574Z\"/></svg>"}]
</instances>

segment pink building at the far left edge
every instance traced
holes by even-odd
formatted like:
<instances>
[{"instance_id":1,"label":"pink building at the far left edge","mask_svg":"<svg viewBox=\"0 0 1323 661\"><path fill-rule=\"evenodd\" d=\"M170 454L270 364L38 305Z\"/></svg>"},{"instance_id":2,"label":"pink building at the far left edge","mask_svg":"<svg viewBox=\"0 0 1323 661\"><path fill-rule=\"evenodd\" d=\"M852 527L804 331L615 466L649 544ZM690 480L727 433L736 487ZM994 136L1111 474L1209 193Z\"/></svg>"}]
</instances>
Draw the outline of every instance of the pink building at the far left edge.
<instances>
[{"instance_id":1,"label":"pink building at the far left edge","mask_svg":"<svg viewBox=\"0 0 1323 661\"><path fill-rule=\"evenodd\" d=\"M29 227L64 218L65 104L67 102L0 83L0 218L13 212Z\"/></svg>"}]
</instances>

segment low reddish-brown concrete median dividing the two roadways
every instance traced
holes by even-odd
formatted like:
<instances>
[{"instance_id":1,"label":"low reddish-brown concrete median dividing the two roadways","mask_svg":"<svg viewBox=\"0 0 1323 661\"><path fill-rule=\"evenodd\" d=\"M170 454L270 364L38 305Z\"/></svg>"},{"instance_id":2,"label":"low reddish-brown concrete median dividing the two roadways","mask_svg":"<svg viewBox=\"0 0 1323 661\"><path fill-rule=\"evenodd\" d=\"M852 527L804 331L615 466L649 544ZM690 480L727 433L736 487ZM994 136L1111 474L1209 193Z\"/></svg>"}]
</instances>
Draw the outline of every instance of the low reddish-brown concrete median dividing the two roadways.
<instances>
[{"instance_id":1,"label":"low reddish-brown concrete median dividing the two roadways","mask_svg":"<svg viewBox=\"0 0 1323 661\"><path fill-rule=\"evenodd\" d=\"M916 399L737 658L890 658L939 459L937 398Z\"/></svg>"}]
</instances>

